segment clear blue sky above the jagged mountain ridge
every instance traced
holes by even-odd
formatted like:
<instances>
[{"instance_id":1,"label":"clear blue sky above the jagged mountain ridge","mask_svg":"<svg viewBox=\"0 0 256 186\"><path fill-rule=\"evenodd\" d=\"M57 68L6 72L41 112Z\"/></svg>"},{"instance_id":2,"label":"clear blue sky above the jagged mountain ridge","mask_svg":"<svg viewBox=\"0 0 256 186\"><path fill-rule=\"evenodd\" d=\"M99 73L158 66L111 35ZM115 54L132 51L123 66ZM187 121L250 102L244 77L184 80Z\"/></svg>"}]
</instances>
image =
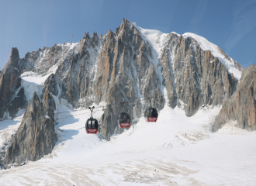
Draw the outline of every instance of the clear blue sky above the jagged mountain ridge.
<instances>
[{"instance_id":1,"label":"clear blue sky above the jagged mountain ridge","mask_svg":"<svg viewBox=\"0 0 256 186\"><path fill-rule=\"evenodd\" d=\"M85 32L104 35L123 18L144 29L198 34L243 67L256 64L255 0L0 0L0 69L12 47L22 58L55 43L76 43Z\"/></svg>"}]
</instances>

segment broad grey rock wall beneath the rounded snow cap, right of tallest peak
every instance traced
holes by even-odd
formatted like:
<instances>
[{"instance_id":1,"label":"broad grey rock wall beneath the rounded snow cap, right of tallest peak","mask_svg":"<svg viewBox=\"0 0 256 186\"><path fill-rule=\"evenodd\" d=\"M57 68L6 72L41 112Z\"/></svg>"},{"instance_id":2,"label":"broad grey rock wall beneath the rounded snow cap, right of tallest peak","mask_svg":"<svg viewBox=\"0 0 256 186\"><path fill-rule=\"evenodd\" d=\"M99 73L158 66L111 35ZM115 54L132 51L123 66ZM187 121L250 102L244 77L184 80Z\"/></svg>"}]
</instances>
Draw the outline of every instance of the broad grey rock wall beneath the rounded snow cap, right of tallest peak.
<instances>
[{"instance_id":1,"label":"broad grey rock wall beneath the rounded snow cap, right of tallest peak","mask_svg":"<svg viewBox=\"0 0 256 186\"><path fill-rule=\"evenodd\" d=\"M192 37L169 33L167 38L160 62L171 108L182 101L191 116L201 105L222 105L230 98L237 81L217 57Z\"/></svg>"}]
</instances>

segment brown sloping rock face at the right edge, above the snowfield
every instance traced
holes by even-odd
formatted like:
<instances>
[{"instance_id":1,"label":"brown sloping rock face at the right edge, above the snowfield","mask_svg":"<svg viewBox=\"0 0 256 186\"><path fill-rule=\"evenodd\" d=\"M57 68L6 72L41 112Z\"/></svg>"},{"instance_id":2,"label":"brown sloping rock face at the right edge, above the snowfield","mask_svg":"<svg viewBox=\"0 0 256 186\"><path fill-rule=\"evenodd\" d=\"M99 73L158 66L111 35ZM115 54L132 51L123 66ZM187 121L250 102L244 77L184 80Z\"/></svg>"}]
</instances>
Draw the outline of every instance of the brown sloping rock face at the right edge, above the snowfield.
<instances>
[{"instance_id":1,"label":"brown sloping rock face at the right edge, above the snowfield","mask_svg":"<svg viewBox=\"0 0 256 186\"><path fill-rule=\"evenodd\" d=\"M224 124L237 120L238 126L249 131L256 129L256 65L244 69L237 84L237 91L223 104L213 122L213 131Z\"/></svg>"}]
</instances>

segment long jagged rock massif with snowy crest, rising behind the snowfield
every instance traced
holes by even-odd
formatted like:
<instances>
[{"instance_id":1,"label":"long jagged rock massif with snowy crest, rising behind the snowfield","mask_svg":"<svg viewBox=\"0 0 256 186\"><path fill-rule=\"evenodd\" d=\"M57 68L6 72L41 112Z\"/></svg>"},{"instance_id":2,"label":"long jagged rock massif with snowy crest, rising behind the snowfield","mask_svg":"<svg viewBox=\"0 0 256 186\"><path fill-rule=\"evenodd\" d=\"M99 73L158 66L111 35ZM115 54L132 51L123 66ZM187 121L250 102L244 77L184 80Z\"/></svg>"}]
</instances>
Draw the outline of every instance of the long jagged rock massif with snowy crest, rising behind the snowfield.
<instances>
[{"instance_id":1,"label":"long jagged rock massif with snowy crest, rising behind the snowfield","mask_svg":"<svg viewBox=\"0 0 256 186\"><path fill-rule=\"evenodd\" d=\"M123 19L115 32L109 29L100 38L85 33L78 43L44 47L22 59L13 49L1 73L0 117L14 117L25 108L33 97L31 90L41 98L49 91L73 107L112 105L100 119L101 135L108 139L116 129L121 100L128 102L126 112L135 120L149 105L148 97L158 110L168 102L191 116L202 105L223 105L236 90L242 71L201 36L142 29ZM24 101L14 104L20 98Z\"/></svg>"}]
</instances>

